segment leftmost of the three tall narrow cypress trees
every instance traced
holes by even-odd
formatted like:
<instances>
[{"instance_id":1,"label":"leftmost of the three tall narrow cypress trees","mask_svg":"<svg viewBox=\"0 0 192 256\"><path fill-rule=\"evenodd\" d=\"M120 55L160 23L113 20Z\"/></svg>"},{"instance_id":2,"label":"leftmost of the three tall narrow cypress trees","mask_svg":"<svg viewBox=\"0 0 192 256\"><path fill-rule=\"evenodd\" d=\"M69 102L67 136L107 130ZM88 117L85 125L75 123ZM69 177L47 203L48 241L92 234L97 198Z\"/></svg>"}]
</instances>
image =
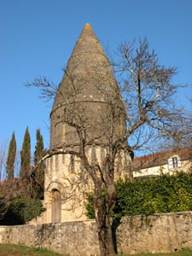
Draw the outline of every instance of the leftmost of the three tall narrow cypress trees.
<instances>
[{"instance_id":1,"label":"leftmost of the three tall narrow cypress trees","mask_svg":"<svg viewBox=\"0 0 192 256\"><path fill-rule=\"evenodd\" d=\"M9 152L6 163L6 172L8 181L12 181L14 178L14 169L15 169L15 155L16 155L16 141L15 141L15 132L13 132L10 143L9 143Z\"/></svg>"}]
</instances>

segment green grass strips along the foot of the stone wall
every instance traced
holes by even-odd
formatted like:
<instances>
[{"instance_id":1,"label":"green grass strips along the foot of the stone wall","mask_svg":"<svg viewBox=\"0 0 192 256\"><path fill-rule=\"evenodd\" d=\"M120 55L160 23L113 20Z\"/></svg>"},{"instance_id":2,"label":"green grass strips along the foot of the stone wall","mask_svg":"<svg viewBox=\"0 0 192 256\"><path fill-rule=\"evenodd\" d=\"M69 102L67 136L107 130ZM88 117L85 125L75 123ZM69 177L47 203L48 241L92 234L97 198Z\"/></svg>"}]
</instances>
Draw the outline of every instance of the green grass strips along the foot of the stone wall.
<instances>
[{"instance_id":1,"label":"green grass strips along the foot of the stone wall","mask_svg":"<svg viewBox=\"0 0 192 256\"><path fill-rule=\"evenodd\" d=\"M46 249L25 247L21 245L0 244L1 256L64 256L60 253L54 253ZM183 250L176 253L139 253L131 256L192 256L192 250ZM75 256L75 255L73 255ZM129 254L122 256L130 256Z\"/></svg>"}]
</instances>

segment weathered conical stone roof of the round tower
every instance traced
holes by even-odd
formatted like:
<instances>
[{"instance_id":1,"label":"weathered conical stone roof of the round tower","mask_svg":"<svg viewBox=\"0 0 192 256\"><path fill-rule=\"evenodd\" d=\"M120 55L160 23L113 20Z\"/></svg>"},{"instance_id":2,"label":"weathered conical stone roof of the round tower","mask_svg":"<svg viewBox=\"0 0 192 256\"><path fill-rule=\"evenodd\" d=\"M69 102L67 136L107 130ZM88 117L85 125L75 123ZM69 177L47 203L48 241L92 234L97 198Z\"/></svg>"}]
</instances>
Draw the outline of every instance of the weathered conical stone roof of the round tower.
<instances>
[{"instance_id":1,"label":"weathered conical stone roof of the round tower","mask_svg":"<svg viewBox=\"0 0 192 256\"><path fill-rule=\"evenodd\" d=\"M73 124L85 127L87 141L107 142L112 102L113 108L116 108L114 134L119 137L125 131L124 104L108 58L87 23L67 62L66 72L55 96L50 113L50 148L78 144Z\"/></svg>"}]
</instances>

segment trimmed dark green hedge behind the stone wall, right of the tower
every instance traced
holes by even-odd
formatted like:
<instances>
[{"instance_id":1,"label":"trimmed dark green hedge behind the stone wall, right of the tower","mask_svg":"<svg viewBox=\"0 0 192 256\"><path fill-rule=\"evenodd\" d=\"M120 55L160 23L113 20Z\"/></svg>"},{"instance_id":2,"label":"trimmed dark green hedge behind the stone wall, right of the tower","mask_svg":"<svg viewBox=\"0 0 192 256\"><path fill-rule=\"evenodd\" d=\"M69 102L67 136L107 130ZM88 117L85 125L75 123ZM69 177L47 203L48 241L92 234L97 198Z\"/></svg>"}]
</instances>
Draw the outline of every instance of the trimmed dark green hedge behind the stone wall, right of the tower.
<instances>
[{"instance_id":1,"label":"trimmed dark green hedge behind the stone wall, right of the tower","mask_svg":"<svg viewBox=\"0 0 192 256\"><path fill-rule=\"evenodd\" d=\"M137 178L116 183L117 201L112 215L151 214L192 211L192 174L178 172L175 176ZM94 218L91 195L87 216Z\"/></svg>"}]
</instances>

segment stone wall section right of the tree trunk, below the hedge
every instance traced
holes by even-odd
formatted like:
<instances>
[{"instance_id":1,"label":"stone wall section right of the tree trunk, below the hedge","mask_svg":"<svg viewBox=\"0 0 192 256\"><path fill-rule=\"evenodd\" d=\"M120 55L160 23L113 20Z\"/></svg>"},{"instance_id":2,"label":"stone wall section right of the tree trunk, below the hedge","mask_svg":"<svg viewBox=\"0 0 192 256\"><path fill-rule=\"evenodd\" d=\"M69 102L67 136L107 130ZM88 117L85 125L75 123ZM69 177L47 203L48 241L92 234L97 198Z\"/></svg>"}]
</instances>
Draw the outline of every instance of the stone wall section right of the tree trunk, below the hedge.
<instances>
[{"instance_id":1,"label":"stone wall section right of the tree trunk, below the hedge","mask_svg":"<svg viewBox=\"0 0 192 256\"><path fill-rule=\"evenodd\" d=\"M192 249L192 212L126 217L117 230L119 252L172 253Z\"/></svg>"}]
</instances>

